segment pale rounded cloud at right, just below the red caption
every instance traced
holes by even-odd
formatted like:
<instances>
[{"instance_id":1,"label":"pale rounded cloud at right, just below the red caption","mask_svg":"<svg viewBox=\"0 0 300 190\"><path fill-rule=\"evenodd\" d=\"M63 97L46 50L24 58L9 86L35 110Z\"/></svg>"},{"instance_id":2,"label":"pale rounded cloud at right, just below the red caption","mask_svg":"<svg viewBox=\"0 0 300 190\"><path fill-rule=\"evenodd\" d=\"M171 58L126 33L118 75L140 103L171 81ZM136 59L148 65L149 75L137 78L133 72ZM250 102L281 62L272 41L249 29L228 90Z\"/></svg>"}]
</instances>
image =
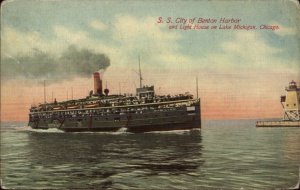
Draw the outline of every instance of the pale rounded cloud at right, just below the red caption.
<instances>
[{"instance_id":1,"label":"pale rounded cloud at right, just below the red caption","mask_svg":"<svg viewBox=\"0 0 300 190\"><path fill-rule=\"evenodd\" d=\"M216 67L222 70L273 70L282 67L282 60L277 54L282 49L270 46L261 33L254 31L239 31L232 39L220 44L223 52L213 55ZM212 57L210 57L212 58Z\"/></svg>"}]
</instances>

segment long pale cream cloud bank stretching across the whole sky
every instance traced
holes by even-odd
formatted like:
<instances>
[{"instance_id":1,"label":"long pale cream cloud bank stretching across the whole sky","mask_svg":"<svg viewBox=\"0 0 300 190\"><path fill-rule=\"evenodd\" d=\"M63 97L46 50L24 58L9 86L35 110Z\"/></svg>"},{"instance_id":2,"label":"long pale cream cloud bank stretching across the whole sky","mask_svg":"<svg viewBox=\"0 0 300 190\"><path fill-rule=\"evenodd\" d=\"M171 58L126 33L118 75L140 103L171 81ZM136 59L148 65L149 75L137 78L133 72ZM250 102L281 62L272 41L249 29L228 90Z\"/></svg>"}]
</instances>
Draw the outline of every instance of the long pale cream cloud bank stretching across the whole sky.
<instances>
[{"instance_id":1,"label":"long pale cream cloud bank stretching across the whole sky","mask_svg":"<svg viewBox=\"0 0 300 190\"><path fill-rule=\"evenodd\" d=\"M132 70L137 68L138 55L141 56L142 68L148 71L144 74L146 79L150 78L150 73L177 78L179 72L182 76L207 72L212 75L248 71L284 72L284 69L295 70L298 64L295 61L286 63L286 60L276 57L282 49L270 46L259 32L254 31L233 32L232 37L216 44L222 51L211 51L205 56L199 56L184 53L186 51L183 51L184 46L180 42L185 39L183 35L186 33L161 27L153 17L116 16L112 27L107 28L109 33L101 37L93 36L88 29L56 25L51 39L43 38L38 32L24 33L13 28L5 28L1 35L4 35L4 43L8 44L5 53L7 50L14 53L7 53L10 56L20 52L32 54L34 49L38 49L47 54L55 53L59 57L61 52L73 44L95 53L105 53L111 60L111 67L105 74L110 78L116 76L116 73L125 78L134 78ZM110 40L105 40L107 38ZM197 48L201 51L205 47L200 44ZM291 67L287 67L287 64Z\"/></svg>"}]
</instances>

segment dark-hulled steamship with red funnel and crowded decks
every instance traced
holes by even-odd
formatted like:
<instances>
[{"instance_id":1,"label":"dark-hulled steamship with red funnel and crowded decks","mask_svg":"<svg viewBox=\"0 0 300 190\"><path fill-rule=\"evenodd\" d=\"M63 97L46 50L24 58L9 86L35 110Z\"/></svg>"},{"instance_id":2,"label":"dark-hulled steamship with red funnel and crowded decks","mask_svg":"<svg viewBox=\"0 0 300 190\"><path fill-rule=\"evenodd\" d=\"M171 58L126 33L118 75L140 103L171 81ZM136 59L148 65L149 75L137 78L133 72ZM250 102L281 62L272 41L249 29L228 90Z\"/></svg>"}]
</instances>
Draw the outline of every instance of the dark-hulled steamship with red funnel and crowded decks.
<instances>
[{"instance_id":1,"label":"dark-hulled steamship with red funnel and crowded decks","mask_svg":"<svg viewBox=\"0 0 300 190\"><path fill-rule=\"evenodd\" d=\"M86 98L31 106L28 125L65 132L150 132L201 128L200 98L189 93L156 95L154 86L140 87L136 95L109 95L99 72L93 73L94 91ZM198 92L197 92L198 94Z\"/></svg>"}]
</instances>

